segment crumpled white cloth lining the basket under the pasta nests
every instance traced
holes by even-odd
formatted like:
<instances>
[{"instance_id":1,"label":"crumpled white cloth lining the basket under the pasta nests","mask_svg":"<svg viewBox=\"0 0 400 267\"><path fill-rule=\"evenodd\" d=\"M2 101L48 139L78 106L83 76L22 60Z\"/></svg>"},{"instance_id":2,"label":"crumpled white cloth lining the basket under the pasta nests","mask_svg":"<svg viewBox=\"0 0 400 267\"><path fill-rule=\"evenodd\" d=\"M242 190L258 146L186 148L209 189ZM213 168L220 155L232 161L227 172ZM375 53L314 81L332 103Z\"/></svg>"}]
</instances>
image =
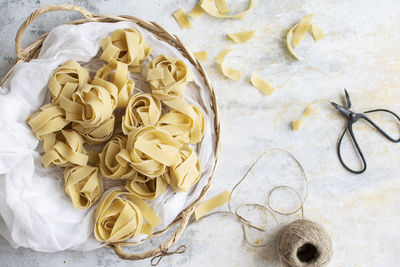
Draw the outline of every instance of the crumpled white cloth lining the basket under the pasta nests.
<instances>
[{"instance_id":1,"label":"crumpled white cloth lining the basket under the pasta nests","mask_svg":"<svg viewBox=\"0 0 400 267\"><path fill-rule=\"evenodd\" d=\"M137 28L152 48L144 70L154 56L183 58L180 52L156 39L132 22L61 25L46 38L38 59L20 63L0 92L0 234L10 244L38 251L92 250L104 246L93 236L93 212L77 210L64 192L62 169L44 169L40 162L42 144L26 124L26 118L49 102L47 89L52 72L69 59L88 62L100 49L100 39L115 29ZM189 66L190 63L184 59ZM185 100L200 105L206 121L203 141L193 146L203 169L200 181L190 192L167 190L150 205L165 228L200 194L214 168L216 135L211 98L204 80L192 67L194 82L188 84ZM72 233L72 234L71 234ZM136 237L135 240L143 238Z\"/></svg>"}]
</instances>

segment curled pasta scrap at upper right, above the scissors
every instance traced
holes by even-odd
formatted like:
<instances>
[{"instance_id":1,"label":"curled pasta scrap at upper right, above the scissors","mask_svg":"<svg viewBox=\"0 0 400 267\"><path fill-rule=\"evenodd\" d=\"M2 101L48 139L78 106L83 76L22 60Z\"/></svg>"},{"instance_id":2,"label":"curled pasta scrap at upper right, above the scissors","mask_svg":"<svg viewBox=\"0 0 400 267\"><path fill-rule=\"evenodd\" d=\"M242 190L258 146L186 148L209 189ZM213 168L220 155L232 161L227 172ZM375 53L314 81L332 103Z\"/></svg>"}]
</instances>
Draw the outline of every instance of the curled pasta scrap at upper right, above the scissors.
<instances>
[{"instance_id":1,"label":"curled pasta scrap at upper right, above the scissors","mask_svg":"<svg viewBox=\"0 0 400 267\"><path fill-rule=\"evenodd\" d=\"M304 16L300 22L293 26L286 34L286 46L290 54L292 54L292 56L294 56L297 60L300 59L294 52L293 46L296 47L300 44L307 31L311 29L311 34L316 42L325 37L321 28L318 25L311 23L313 16L313 14Z\"/></svg>"}]
</instances>

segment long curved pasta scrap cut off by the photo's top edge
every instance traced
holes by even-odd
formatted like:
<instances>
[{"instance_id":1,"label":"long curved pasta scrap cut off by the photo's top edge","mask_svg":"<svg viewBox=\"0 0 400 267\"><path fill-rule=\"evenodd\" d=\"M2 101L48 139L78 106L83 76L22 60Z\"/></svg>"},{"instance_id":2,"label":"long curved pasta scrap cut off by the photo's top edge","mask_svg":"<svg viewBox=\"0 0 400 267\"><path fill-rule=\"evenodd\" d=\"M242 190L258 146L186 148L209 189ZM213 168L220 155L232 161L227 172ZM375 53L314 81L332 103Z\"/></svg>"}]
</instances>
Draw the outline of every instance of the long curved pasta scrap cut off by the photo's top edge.
<instances>
[{"instance_id":1,"label":"long curved pasta scrap cut off by the photo's top edge","mask_svg":"<svg viewBox=\"0 0 400 267\"><path fill-rule=\"evenodd\" d=\"M210 16L222 19L243 19L246 17L247 13L253 8L254 1L250 0L249 6L246 10L234 14L234 15L227 15L226 11L229 10L225 1L209 1L203 0L200 3L200 7L207 12ZM229 10L230 11L230 10Z\"/></svg>"}]
</instances>

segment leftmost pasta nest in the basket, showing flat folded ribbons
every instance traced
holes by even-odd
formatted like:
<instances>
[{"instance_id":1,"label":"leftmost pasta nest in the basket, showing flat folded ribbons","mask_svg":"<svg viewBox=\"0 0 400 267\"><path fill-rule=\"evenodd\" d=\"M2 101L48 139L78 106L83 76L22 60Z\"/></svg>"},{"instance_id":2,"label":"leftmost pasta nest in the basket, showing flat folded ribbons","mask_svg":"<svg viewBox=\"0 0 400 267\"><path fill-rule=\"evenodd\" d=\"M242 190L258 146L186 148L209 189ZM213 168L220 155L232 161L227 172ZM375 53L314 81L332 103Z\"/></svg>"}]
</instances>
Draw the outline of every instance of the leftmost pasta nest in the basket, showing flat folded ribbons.
<instances>
[{"instance_id":1,"label":"leftmost pasta nest in the basket, showing flat folded ribbons","mask_svg":"<svg viewBox=\"0 0 400 267\"><path fill-rule=\"evenodd\" d=\"M39 139L43 135L60 131L70 123L65 119L64 110L52 103L40 107L40 111L30 116L27 122Z\"/></svg>"}]
</instances>

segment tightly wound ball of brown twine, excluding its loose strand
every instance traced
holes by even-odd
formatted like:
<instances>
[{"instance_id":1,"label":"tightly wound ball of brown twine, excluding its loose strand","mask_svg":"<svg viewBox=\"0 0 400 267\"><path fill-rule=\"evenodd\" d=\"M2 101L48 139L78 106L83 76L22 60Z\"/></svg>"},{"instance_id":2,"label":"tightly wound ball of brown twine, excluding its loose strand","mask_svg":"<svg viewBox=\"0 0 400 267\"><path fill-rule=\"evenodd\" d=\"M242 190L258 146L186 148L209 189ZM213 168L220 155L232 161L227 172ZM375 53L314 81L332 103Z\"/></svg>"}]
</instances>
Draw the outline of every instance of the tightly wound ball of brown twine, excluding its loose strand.
<instances>
[{"instance_id":1,"label":"tightly wound ball of brown twine, excluding its loose strand","mask_svg":"<svg viewBox=\"0 0 400 267\"><path fill-rule=\"evenodd\" d=\"M321 267L331 260L332 240L325 229L309 220L297 220L282 228L276 237L282 264L290 267Z\"/></svg>"}]
</instances>

